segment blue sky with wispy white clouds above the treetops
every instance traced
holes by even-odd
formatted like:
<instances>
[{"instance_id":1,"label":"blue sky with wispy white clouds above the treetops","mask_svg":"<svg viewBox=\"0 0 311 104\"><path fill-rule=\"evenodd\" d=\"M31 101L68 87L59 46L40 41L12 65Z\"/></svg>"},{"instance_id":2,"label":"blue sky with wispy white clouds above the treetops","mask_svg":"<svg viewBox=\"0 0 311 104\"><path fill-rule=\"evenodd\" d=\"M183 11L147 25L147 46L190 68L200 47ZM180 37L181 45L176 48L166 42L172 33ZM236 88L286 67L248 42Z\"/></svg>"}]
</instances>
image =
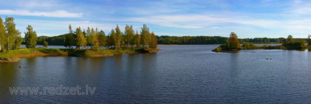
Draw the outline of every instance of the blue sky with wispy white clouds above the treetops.
<instances>
[{"instance_id":1,"label":"blue sky with wispy white clouds above the treetops","mask_svg":"<svg viewBox=\"0 0 311 104\"><path fill-rule=\"evenodd\" d=\"M303 0L0 0L0 17L14 17L22 32L31 25L38 36L68 33L71 24L106 34L118 26L169 36L307 38L311 1Z\"/></svg>"}]
</instances>

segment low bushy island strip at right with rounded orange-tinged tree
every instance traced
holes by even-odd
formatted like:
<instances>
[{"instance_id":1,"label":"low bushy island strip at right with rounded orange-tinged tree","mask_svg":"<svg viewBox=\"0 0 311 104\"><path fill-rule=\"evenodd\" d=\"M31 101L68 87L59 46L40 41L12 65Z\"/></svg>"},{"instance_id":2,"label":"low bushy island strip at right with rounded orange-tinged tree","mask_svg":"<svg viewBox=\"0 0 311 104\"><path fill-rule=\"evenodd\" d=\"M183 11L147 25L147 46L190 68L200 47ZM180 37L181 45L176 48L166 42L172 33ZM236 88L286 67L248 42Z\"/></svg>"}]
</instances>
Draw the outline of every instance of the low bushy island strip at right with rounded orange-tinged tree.
<instances>
[{"instance_id":1,"label":"low bushy island strip at right with rounded orange-tinged tree","mask_svg":"<svg viewBox=\"0 0 311 104\"><path fill-rule=\"evenodd\" d=\"M212 50L213 52L238 52L237 50L272 50L272 49L290 49L290 50L298 50L303 48L311 48L311 39L310 35L308 36L308 45L305 45L305 40L299 39L294 40L293 36L289 35L286 39L282 40L282 45L279 46L271 46L271 45L263 45L256 46L253 44L244 43L243 45L239 44L238 36L231 32L230 37L227 42L223 45Z\"/></svg>"}]
</instances>

